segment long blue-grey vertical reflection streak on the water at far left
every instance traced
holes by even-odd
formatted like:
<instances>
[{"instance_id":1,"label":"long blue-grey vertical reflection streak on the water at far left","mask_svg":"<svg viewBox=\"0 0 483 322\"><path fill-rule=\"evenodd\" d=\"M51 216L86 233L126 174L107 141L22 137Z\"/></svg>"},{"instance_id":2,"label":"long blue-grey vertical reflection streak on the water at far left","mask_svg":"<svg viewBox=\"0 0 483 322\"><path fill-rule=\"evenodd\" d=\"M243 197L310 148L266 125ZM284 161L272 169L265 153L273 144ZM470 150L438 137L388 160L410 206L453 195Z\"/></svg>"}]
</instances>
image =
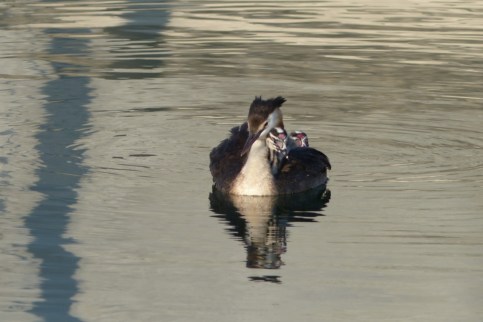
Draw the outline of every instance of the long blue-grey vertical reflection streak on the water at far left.
<instances>
[{"instance_id":1,"label":"long blue-grey vertical reflection streak on the water at far left","mask_svg":"<svg viewBox=\"0 0 483 322\"><path fill-rule=\"evenodd\" d=\"M82 53L83 47L84 40L54 38L50 52ZM53 65L57 72L69 68L68 64ZM43 106L46 121L39 126L41 132L35 135L39 142L35 148L43 167L36 170L39 180L30 188L41 192L44 199L25 217L25 227L33 236L28 252L42 260L39 273L42 300L34 302L29 312L46 322L81 321L69 314L71 298L79 291L73 275L80 258L62 245L74 242L63 234L70 222L71 205L77 202L75 189L87 172L87 167L82 165L85 149L73 144L88 135L88 83L89 78L85 76L59 75L58 79L48 81L42 91L48 101Z\"/></svg>"}]
</instances>

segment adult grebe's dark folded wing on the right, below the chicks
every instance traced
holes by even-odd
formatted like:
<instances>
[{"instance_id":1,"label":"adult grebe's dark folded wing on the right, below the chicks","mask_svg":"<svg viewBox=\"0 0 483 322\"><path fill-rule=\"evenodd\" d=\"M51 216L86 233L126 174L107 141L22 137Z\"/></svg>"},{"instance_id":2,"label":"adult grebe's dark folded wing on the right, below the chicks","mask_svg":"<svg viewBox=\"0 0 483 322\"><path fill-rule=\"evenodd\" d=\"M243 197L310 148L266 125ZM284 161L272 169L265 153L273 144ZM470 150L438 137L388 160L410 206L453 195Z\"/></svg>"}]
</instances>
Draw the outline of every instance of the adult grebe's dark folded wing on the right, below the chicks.
<instances>
[{"instance_id":1,"label":"adult grebe's dark folded wing on the right, below the chicks","mask_svg":"<svg viewBox=\"0 0 483 322\"><path fill-rule=\"evenodd\" d=\"M288 159L282 161L275 181L281 194L302 192L327 182L327 170L331 169L327 156L308 147L294 148Z\"/></svg>"}]
</instances>

